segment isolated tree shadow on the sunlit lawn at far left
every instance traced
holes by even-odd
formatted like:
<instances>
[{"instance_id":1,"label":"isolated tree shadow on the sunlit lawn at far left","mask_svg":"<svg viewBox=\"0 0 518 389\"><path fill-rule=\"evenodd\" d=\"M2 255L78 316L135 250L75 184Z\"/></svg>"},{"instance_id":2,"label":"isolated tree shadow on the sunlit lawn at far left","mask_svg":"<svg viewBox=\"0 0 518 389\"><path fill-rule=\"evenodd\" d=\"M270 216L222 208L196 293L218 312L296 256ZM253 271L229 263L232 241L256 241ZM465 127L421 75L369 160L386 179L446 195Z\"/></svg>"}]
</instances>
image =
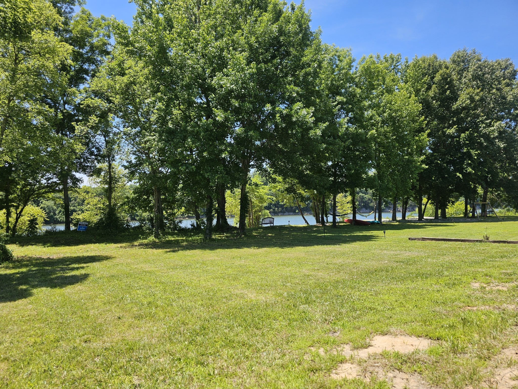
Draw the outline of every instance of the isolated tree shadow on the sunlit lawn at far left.
<instances>
[{"instance_id":1,"label":"isolated tree shadow on the sunlit lawn at far left","mask_svg":"<svg viewBox=\"0 0 518 389\"><path fill-rule=\"evenodd\" d=\"M0 303L31 297L36 288L64 288L86 280L90 274L71 274L88 263L104 261L107 255L59 258L18 257L0 268Z\"/></svg>"}]
</instances>

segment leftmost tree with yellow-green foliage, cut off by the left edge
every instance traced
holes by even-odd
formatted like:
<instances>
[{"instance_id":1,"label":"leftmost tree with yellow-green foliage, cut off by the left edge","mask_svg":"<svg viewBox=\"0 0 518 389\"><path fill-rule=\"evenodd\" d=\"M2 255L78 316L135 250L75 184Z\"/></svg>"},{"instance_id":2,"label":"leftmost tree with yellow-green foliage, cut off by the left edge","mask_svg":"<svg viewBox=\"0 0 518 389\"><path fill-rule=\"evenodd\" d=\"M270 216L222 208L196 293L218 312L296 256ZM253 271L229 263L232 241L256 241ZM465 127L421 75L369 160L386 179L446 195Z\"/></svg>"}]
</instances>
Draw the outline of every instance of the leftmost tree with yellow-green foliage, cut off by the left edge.
<instances>
[{"instance_id":1,"label":"leftmost tree with yellow-green foliage, cut off by the left edge","mask_svg":"<svg viewBox=\"0 0 518 389\"><path fill-rule=\"evenodd\" d=\"M49 155L50 114L40 97L51 85L60 84L56 66L70 53L70 47L54 36L60 25L59 15L45 1L0 5L0 190L7 233L16 233L9 231L11 209L17 208L13 197L19 204L18 199L26 199L32 185L52 171L43 158Z\"/></svg>"}]
</instances>

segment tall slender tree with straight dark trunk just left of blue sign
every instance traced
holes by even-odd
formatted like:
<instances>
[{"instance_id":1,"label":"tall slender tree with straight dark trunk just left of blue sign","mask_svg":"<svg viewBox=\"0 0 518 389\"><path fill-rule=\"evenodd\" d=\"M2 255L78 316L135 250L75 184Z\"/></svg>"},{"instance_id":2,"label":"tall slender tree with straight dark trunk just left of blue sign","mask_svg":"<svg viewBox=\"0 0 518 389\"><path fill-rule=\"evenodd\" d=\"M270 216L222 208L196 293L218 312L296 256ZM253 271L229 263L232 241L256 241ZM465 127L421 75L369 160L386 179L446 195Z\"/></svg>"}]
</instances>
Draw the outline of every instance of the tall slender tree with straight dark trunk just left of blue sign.
<instances>
[{"instance_id":1,"label":"tall slender tree with straight dark trunk just left of blue sign","mask_svg":"<svg viewBox=\"0 0 518 389\"><path fill-rule=\"evenodd\" d=\"M52 113L49 158L61 183L65 230L69 231L69 188L80 183L75 173L89 173L93 166L88 139L76 131L76 123L85 119L80 109L84 87L110 53L111 33L110 22L105 17L95 18L83 7L75 13L75 7L81 2L53 0L51 3L61 17L61 24L54 28L55 37L72 48L67 61L55 66L60 82L49 85L43 95Z\"/></svg>"}]
</instances>

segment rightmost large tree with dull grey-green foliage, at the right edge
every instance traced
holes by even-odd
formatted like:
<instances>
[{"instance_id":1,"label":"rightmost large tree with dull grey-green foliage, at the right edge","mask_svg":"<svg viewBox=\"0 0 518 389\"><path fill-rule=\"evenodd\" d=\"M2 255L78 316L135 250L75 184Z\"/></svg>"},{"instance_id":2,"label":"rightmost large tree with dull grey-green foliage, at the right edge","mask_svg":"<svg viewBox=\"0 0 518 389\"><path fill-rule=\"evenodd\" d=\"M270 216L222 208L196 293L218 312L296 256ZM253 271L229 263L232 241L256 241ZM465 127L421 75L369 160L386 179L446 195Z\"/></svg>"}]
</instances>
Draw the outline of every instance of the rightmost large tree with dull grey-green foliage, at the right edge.
<instances>
[{"instance_id":1,"label":"rightmost large tree with dull grey-green foliage, at the right edge","mask_svg":"<svg viewBox=\"0 0 518 389\"><path fill-rule=\"evenodd\" d=\"M514 160L506 146L516 115L517 70L510 59L490 61L474 49L456 51L449 62L458 91L454 139L462 150L457 190L474 201L480 186L484 203ZM485 215L485 204L481 211Z\"/></svg>"}]
</instances>

